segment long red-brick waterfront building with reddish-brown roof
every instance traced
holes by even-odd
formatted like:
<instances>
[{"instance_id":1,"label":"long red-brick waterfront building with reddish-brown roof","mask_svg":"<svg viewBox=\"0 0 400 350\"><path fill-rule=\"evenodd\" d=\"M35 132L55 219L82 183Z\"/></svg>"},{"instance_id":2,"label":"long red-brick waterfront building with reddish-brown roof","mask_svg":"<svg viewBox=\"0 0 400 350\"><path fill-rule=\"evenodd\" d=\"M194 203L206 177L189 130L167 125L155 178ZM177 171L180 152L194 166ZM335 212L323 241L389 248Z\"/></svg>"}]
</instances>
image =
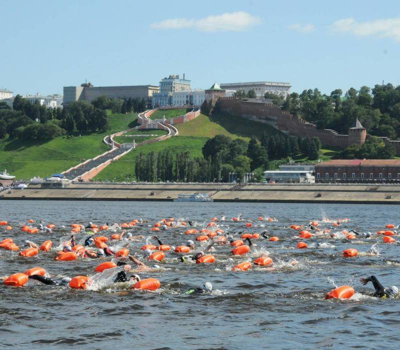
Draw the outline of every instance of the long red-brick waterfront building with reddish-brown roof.
<instances>
[{"instance_id":1,"label":"long red-brick waterfront building with reddish-brown roof","mask_svg":"<svg viewBox=\"0 0 400 350\"><path fill-rule=\"evenodd\" d=\"M315 182L398 182L400 159L334 159L315 164Z\"/></svg>"}]
</instances>

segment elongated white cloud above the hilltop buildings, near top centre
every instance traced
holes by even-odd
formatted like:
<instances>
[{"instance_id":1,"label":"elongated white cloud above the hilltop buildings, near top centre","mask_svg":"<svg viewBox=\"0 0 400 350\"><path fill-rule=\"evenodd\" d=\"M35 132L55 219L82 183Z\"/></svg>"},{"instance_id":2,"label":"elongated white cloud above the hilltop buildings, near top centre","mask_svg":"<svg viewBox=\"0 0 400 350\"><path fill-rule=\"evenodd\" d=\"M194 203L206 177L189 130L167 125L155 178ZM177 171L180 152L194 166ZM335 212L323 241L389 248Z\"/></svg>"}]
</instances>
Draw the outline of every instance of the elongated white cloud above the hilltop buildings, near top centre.
<instances>
[{"instance_id":1,"label":"elongated white cloud above the hilltop buildings, near top centre","mask_svg":"<svg viewBox=\"0 0 400 350\"><path fill-rule=\"evenodd\" d=\"M153 29L195 28L199 31L242 31L261 23L259 17L238 11L207 16L200 19L170 18L151 23Z\"/></svg>"}]
</instances>

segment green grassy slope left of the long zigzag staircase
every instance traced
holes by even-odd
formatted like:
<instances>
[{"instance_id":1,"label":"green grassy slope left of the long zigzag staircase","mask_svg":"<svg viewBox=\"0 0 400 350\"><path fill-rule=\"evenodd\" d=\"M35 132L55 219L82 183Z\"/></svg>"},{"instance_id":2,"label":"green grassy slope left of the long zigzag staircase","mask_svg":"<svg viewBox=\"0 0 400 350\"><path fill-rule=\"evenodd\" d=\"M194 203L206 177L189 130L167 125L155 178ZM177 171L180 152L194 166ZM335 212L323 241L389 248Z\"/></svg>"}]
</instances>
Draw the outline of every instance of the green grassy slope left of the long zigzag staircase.
<instances>
[{"instance_id":1,"label":"green grassy slope left of the long zigzag staircase","mask_svg":"<svg viewBox=\"0 0 400 350\"><path fill-rule=\"evenodd\" d=\"M136 114L109 115L110 130L90 135L61 136L46 142L0 141L0 169L29 179L61 172L108 149L102 143L105 134L135 126Z\"/></svg>"}]
</instances>

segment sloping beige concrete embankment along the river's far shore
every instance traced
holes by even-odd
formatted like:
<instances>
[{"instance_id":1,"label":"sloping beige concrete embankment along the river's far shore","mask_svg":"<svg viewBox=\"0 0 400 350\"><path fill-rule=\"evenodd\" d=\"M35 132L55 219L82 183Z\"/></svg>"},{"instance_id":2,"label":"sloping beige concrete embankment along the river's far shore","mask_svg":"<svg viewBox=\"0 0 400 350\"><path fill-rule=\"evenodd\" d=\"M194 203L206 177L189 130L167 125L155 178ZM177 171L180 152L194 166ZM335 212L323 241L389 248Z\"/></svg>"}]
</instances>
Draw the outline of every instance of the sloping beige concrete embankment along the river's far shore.
<instances>
[{"instance_id":1,"label":"sloping beige concrete embankment along the river's far shore","mask_svg":"<svg viewBox=\"0 0 400 350\"><path fill-rule=\"evenodd\" d=\"M6 189L0 199L155 200L208 193L214 201L400 204L400 185L388 184L189 184L73 183L65 188Z\"/></svg>"}]
</instances>

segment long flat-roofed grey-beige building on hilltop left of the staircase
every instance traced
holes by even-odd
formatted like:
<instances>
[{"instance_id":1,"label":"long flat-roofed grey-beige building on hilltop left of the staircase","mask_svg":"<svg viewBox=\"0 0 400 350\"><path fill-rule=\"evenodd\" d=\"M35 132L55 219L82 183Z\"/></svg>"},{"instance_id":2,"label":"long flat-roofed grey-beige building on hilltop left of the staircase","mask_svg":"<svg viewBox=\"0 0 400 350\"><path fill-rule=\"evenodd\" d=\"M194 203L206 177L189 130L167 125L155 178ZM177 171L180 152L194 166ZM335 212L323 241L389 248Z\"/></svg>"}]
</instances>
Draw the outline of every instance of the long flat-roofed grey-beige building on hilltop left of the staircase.
<instances>
[{"instance_id":1,"label":"long flat-roofed grey-beige building on hilltop left of the staircase","mask_svg":"<svg viewBox=\"0 0 400 350\"><path fill-rule=\"evenodd\" d=\"M93 86L90 82L80 86L64 86L64 106L76 101L89 101L99 96L111 98L144 98L146 103L151 102L151 97L159 91L154 85L131 86Z\"/></svg>"}]
</instances>

